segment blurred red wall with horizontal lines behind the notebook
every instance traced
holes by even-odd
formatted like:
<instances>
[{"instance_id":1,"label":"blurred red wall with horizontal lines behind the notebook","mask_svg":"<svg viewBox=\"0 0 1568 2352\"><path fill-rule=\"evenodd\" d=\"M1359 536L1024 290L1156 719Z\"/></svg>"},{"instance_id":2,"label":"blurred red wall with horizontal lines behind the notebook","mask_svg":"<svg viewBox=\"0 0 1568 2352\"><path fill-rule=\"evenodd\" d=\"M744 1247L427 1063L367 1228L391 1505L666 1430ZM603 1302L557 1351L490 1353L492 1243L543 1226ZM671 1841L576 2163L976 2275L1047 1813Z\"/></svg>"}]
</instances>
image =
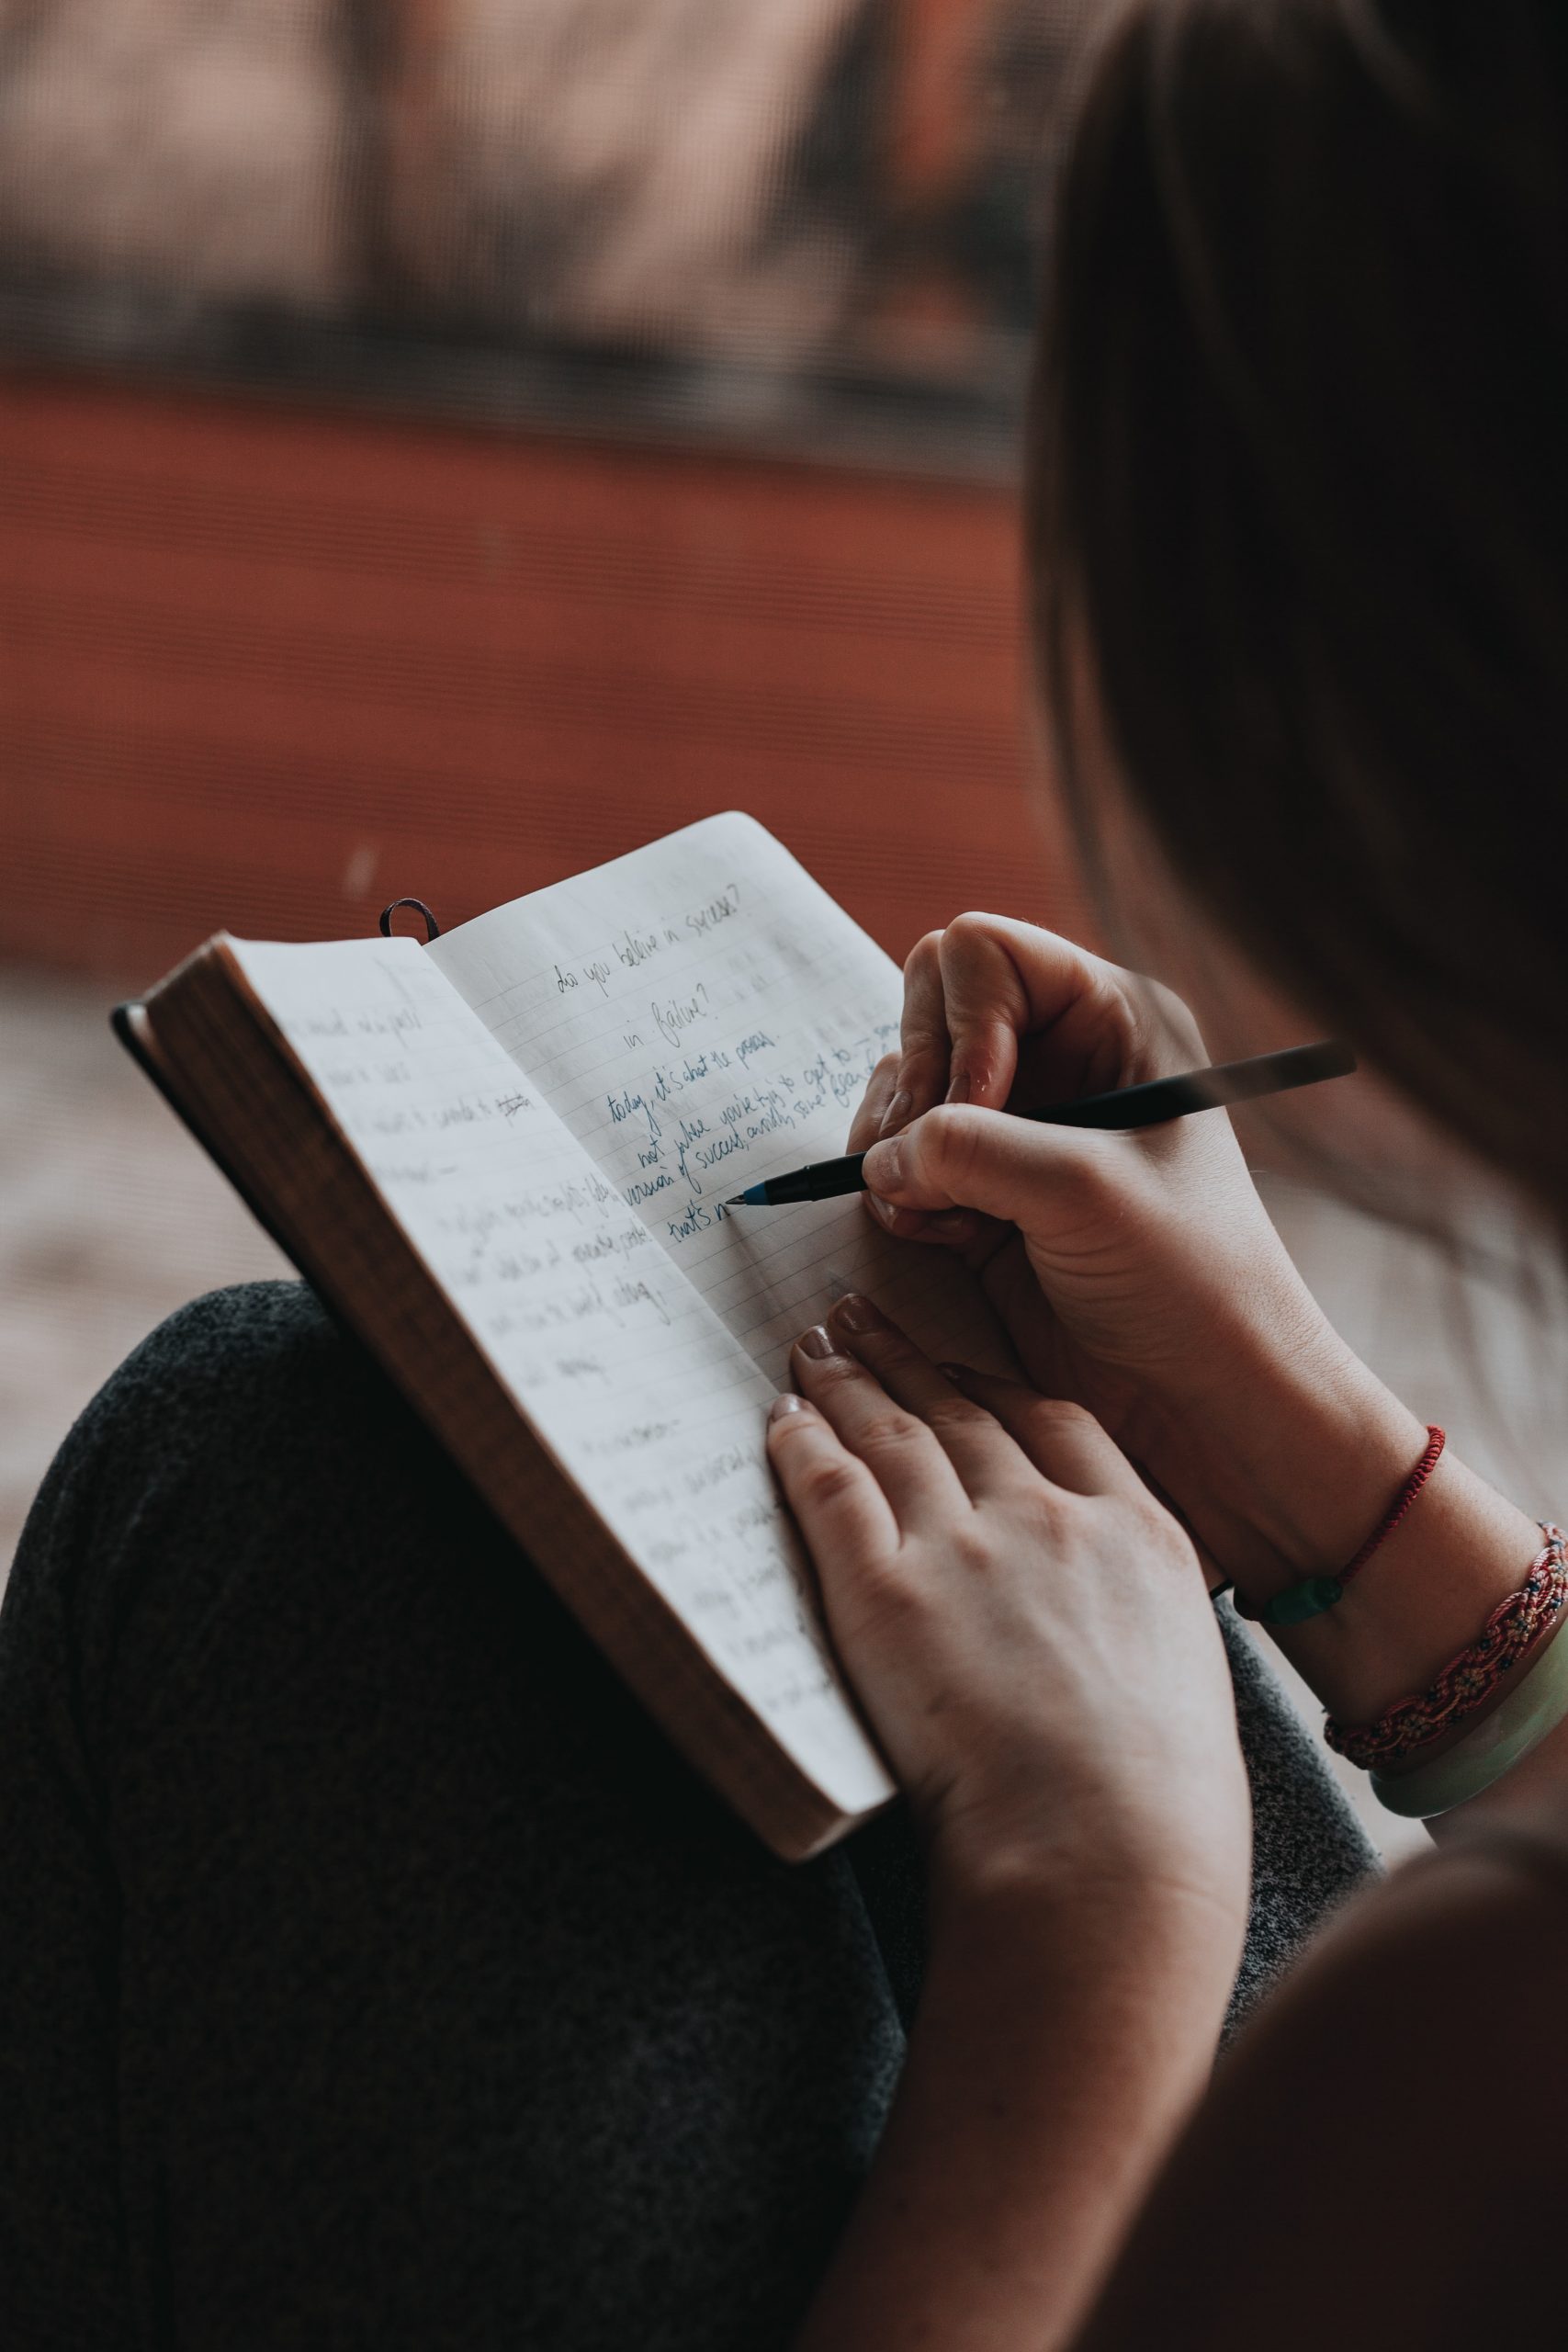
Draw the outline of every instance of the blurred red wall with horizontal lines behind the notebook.
<instances>
[{"instance_id":1,"label":"blurred red wall with horizontal lines behind the notebook","mask_svg":"<svg viewBox=\"0 0 1568 2352\"><path fill-rule=\"evenodd\" d=\"M997 492L0 383L0 955L444 922L745 807L893 953L1072 924Z\"/></svg>"}]
</instances>

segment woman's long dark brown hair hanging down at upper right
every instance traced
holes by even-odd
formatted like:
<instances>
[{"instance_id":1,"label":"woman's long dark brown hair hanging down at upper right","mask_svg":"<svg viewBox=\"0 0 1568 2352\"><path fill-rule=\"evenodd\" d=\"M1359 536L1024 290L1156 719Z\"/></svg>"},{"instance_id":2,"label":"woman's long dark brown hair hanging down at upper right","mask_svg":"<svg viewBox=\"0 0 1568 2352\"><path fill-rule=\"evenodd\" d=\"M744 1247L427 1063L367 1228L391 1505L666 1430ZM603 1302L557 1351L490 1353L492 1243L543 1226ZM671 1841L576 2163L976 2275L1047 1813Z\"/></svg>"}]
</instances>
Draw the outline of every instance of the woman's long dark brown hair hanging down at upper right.
<instances>
[{"instance_id":1,"label":"woman's long dark brown hair hanging down at upper right","mask_svg":"<svg viewBox=\"0 0 1568 2352\"><path fill-rule=\"evenodd\" d=\"M1251 962L1568 1200L1568 9L1135 0L1053 207L1037 644Z\"/></svg>"}]
</instances>

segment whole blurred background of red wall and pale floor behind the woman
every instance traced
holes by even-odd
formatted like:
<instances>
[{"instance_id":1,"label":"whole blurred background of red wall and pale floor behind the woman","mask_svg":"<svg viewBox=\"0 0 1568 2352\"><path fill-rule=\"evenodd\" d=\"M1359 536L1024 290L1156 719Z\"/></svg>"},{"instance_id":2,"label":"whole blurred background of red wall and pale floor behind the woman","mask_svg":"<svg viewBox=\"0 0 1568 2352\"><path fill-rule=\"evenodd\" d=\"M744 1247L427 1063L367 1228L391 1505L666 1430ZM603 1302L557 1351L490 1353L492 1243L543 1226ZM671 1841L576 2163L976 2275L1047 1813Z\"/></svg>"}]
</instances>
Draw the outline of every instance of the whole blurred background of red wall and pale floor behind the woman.
<instances>
[{"instance_id":1,"label":"whole blurred background of red wall and pale floor behind the woman","mask_svg":"<svg viewBox=\"0 0 1568 2352\"><path fill-rule=\"evenodd\" d=\"M0 0L0 1573L115 1359L277 1270L103 1025L209 931L451 924L722 807L898 957L1086 931L1013 517L1098 5ZM1272 1197L1566 1510L1528 1310L1460 1284L1488 1414L1460 1277Z\"/></svg>"}]
</instances>

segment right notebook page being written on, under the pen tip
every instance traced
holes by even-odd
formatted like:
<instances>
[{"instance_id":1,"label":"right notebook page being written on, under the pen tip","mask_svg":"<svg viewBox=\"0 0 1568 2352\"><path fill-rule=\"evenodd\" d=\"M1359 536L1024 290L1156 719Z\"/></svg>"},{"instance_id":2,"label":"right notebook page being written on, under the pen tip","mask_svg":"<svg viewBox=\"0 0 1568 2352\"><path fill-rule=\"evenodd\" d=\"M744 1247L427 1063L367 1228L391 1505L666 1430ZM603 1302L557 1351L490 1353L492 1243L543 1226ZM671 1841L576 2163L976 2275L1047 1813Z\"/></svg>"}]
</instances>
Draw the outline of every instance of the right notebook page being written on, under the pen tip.
<instances>
[{"instance_id":1,"label":"right notebook page being written on, under the pen tip","mask_svg":"<svg viewBox=\"0 0 1568 2352\"><path fill-rule=\"evenodd\" d=\"M832 1160L898 1042L898 967L755 818L686 826L425 950L776 1385L863 1289L929 1352L1013 1362L978 1284L858 1200L724 1211Z\"/></svg>"}]
</instances>

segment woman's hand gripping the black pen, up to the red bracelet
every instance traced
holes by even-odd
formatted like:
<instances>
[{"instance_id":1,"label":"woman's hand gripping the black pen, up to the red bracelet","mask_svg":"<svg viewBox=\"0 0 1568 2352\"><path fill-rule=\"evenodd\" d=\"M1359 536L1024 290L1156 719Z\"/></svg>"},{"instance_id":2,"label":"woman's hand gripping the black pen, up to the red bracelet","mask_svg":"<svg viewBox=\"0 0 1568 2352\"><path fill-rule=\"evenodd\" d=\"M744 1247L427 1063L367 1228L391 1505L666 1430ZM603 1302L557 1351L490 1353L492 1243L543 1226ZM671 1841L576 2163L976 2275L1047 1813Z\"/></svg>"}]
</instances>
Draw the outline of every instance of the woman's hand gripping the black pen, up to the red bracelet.
<instances>
[{"instance_id":1,"label":"woman's hand gripping the black pen, up to the red bracelet","mask_svg":"<svg viewBox=\"0 0 1568 2352\"><path fill-rule=\"evenodd\" d=\"M1225 1573L1333 1566L1420 1454L1295 1272L1229 1120L1004 1117L1206 1061L1185 1004L1084 948L961 915L905 964L903 1042L849 1148L867 1207L980 1275L1032 1383L1072 1397Z\"/></svg>"}]
</instances>

